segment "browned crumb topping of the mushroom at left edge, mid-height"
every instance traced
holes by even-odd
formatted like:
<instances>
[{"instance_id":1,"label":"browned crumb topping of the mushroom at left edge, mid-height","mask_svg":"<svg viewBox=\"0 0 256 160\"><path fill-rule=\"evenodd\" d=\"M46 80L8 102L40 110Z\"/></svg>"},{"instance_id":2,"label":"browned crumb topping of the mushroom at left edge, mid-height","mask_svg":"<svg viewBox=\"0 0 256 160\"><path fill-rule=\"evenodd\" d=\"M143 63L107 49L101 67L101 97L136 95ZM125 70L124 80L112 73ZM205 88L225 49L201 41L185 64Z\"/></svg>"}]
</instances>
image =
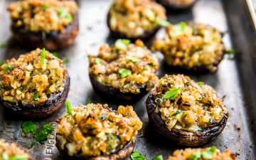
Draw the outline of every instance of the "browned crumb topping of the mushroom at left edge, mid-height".
<instances>
[{"instance_id":1,"label":"browned crumb topping of the mushroom at left edge, mid-height","mask_svg":"<svg viewBox=\"0 0 256 160\"><path fill-rule=\"evenodd\" d=\"M36 49L12 58L0 68L1 98L23 105L46 102L63 91L66 72L63 61L47 50Z\"/></svg>"}]
</instances>

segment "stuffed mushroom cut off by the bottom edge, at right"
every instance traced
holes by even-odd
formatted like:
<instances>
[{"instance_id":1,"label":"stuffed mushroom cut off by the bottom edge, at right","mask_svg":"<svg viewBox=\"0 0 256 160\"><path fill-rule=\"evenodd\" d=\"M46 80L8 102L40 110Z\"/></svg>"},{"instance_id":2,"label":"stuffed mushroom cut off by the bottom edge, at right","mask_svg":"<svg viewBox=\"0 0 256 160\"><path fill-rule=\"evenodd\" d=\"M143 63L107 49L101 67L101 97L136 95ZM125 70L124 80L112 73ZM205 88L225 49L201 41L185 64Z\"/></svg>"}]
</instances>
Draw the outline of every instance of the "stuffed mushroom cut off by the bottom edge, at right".
<instances>
[{"instance_id":1,"label":"stuffed mushroom cut off by the bottom edge, at right","mask_svg":"<svg viewBox=\"0 0 256 160\"><path fill-rule=\"evenodd\" d=\"M174 151L172 156L169 156L169 160L235 160L235 154L230 149L226 149L221 152L216 149L215 146L211 146L203 149L181 149Z\"/></svg>"}]
</instances>

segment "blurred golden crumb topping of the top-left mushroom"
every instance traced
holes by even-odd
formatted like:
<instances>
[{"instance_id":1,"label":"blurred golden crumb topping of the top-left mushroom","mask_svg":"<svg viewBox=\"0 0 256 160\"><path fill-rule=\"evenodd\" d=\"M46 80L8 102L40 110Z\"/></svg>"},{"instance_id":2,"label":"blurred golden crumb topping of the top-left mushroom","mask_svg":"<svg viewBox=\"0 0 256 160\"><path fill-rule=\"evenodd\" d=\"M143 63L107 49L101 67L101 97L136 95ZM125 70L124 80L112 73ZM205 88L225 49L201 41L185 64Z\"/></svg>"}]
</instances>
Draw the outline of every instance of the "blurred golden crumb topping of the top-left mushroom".
<instances>
[{"instance_id":1,"label":"blurred golden crumb topping of the top-left mushroom","mask_svg":"<svg viewBox=\"0 0 256 160\"><path fill-rule=\"evenodd\" d=\"M78 12L75 1L23 0L11 3L8 10L14 26L29 31L65 31Z\"/></svg>"}]
</instances>

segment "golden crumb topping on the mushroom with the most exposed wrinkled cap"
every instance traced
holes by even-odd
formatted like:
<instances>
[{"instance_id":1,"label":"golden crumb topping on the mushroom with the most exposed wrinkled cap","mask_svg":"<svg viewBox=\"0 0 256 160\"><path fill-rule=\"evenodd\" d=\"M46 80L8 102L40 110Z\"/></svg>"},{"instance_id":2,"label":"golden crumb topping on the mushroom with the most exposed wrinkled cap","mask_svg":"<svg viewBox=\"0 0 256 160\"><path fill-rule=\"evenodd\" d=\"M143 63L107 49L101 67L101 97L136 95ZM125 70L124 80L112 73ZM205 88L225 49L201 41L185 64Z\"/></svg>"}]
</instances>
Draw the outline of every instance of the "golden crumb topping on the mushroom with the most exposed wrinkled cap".
<instances>
[{"instance_id":1,"label":"golden crumb topping on the mushroom with the most exposed wrinkled cap","mask_svg":"<svg viewBox=\"0 0 256 160\"><path fill-rule=\"evenodd\" d=\"M165 75L153 92L166 127L200 132L219 123L228 111L215 90L184 75Z\"/></svg>"}]
</instances>

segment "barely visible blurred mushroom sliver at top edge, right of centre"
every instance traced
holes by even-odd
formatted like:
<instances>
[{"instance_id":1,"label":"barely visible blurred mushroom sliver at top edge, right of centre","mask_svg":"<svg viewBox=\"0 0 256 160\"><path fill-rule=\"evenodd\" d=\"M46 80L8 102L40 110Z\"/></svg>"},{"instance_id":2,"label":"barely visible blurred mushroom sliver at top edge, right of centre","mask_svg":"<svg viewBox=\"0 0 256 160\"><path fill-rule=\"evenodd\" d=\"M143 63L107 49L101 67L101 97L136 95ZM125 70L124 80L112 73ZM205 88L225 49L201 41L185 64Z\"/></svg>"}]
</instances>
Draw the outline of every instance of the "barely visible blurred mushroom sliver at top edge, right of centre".
<instances>
[{"instance_id":1,"label":"barely visible blurred mushroom sliver at top edge, right of centre","mask_svg":"<svg viewBox=\"0 0 256 160\"><path fill-rule=\"evenodd\" d=\"M188 9L193 4L196 3L196 0L157 0L159 4L166 6L168 9L172 10L183 10Z\"/></svg>"}]
</instances>

